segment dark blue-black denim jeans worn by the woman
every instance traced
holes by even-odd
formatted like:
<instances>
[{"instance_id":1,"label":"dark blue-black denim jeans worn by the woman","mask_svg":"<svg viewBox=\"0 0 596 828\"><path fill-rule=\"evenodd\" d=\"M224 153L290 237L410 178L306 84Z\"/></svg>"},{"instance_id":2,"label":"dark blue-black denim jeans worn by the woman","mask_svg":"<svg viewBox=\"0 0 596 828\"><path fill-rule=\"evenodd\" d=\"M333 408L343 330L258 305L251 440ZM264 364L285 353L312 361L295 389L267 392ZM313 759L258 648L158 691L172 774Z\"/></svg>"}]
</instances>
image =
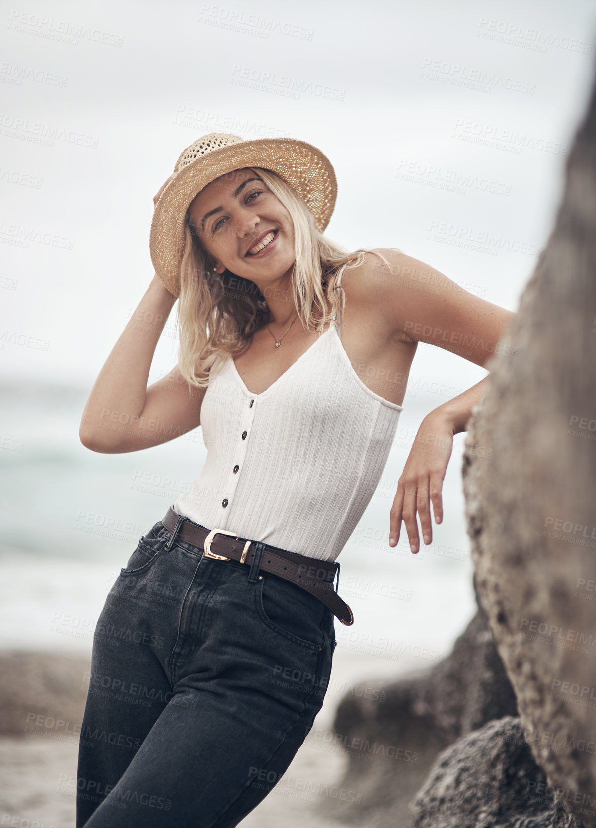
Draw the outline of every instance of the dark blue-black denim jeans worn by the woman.
<instances>
[{"instance_id":1,"label":"dark blue-black denim jeans worn by the woman","mask_svg":"<svg viewBox=\"0 0 596 828\"><path fill-rule=\"evenodd\" d=\"M161 521L140 539L99 616L77 828L232 828L323 705L331 611L257 560L170 539Z\"/></svg>"}]
</instances>

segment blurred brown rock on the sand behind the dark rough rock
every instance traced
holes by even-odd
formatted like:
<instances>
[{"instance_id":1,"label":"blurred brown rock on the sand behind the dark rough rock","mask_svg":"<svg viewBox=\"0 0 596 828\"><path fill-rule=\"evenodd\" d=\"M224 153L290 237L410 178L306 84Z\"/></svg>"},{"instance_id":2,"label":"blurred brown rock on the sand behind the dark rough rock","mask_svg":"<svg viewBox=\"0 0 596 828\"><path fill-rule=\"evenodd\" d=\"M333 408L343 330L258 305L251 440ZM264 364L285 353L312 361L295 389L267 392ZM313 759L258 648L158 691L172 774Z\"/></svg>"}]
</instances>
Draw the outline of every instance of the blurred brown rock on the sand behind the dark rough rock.
<instances>
[{"instance_id":1,"label":"blurred brown rock on the sand behind the dark rough rock","mask_svg":"<svg viewBox=\"0 0 596 828\"><path fill-rule=\"evenodd\" d=\"M442 662L377 686L384 692L371 695L384 697L382 704L345 696L334 721L349 757L341 787L357 791L360 800L328 802L324 809L345 823L406 828L408 803L437 753L488 720L517 715L515 698L482 610Z\"/></svg>"}]
</instances>

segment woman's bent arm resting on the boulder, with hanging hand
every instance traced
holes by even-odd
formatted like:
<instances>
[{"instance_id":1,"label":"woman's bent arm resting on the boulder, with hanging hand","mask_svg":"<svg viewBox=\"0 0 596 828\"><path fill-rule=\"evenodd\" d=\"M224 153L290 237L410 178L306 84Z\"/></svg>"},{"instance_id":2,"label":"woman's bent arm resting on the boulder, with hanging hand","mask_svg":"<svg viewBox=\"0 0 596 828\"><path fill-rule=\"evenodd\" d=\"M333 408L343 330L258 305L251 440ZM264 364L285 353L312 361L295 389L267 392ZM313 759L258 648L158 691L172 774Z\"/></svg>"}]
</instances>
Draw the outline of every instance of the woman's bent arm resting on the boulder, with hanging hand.
<instances>
[{"instance_id":1,"label":"woman's bent arm resting on the boulder, with hanging hand","mask_svg":"<svg viewBox=\"0 0 596 828\"><path fill-rule=\"evenodd\" d=\"M499 344L513 315L511 310L474 296L434 267L401 251L379 249L378 252L390 263L391 275L387 277L387 267L382 268L376 257L369 259L363 280L366 301L374 302L396 333L406 333L410 339L449 350L481 367L495 353L515 356L507 346ZM424 542L432 542L430 503L435 522L440 523L443 519L441 490L453 438L460 431L466 431L472 409L486 389L486 381L485 377L458 397L444 402L422 421L397 482L390 512L390 546L397 545L403 521L411 551L418 551L416 513L420 516Z\"/></svg>"}]
</instances>

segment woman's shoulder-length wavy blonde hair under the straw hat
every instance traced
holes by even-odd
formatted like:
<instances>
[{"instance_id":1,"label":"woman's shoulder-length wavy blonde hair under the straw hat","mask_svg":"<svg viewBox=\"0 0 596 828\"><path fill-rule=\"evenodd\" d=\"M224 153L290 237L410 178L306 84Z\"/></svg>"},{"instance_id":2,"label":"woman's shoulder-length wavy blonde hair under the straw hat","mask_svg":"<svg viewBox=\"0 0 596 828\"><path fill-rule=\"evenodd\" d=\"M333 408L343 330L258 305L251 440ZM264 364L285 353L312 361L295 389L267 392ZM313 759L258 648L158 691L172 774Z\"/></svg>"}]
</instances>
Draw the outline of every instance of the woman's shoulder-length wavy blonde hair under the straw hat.
<instances>
[{"instance_id":1,"label":"woman's shoulder-length wavy blonde hair under the straw hat","mask_svg":"<svg viewBox=\"0 0 596 828\"><path fill-rule=\"evenodd\" d=\"M344 307L344 291L340 297L334 289L339 273L345 267L358 267L372 251L359 248L349 253L316 228L310 209L286 181L272 171L251 169L290 214L296 254L290 272L291 300L300 320L306 330L324 330L332 323L339 301ZM228 270L216 273L214 268L214 258L204 248L187 210L180 263L178 368L186 382L197 388L206 387L228 359L242 354L256 331L269 321L267 301L254 282ZM222 363L211 372L218 356Z\"/></svg>"}]
</instances>

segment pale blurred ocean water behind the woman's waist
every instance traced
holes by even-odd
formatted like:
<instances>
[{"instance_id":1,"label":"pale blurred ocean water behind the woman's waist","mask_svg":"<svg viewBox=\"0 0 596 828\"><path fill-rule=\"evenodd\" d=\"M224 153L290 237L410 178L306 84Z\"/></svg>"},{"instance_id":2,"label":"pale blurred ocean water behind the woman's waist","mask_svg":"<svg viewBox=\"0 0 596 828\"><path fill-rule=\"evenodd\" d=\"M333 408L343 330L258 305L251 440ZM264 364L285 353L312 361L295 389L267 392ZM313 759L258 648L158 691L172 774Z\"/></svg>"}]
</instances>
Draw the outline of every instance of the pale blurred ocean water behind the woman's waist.
<instances>
[{"instance_id":1,"label":"pale blurred ocean water behind the woman's waist","mask_svg":"<svg viewBox=\"0 0 596 828\"><path fill-rule=\"evenodd\" d=\"M200 428L125 455L79 441L89 388L0 384L0 647L90 652L105 597L138 538L188 489L204 463ZM411 440L429 407L406 395L387 468L339 556L339 592L355 623L335 622L336 659L393 675L430 667L475 612L461 486L465 435L444 483L444 522L409 551L388 544L389 510ZM351 672L351 671L350 671Z\"/></svg>"}]
</instances>

